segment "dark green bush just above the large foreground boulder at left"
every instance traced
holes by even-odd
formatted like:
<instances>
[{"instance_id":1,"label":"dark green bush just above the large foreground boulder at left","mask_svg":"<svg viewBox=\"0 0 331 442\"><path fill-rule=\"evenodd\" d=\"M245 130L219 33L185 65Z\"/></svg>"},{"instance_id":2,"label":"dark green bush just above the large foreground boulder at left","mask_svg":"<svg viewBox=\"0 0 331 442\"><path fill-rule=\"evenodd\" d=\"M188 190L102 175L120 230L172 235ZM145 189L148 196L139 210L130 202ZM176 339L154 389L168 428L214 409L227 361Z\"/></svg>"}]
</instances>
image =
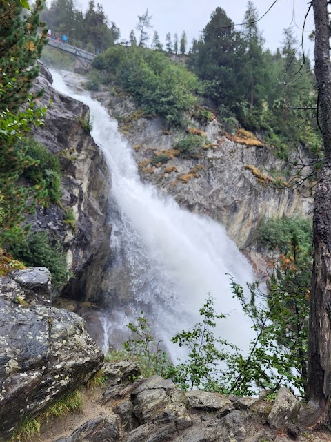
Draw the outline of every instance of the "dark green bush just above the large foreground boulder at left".
<instances>
[{"instance_id":1,"label":"dark green bush just above the large foreground boulder at left","mask_svg":"<svg viewBox=\"0 0 331 442\"><path fill-rule=\"evenodd\" d=\"M47 267L52 273L52 285L61 288L67 280L66 256L56 241L46 232L31 233L26 239L10 245L14 258L30 266Z\"/></svg>"}]
</instances>

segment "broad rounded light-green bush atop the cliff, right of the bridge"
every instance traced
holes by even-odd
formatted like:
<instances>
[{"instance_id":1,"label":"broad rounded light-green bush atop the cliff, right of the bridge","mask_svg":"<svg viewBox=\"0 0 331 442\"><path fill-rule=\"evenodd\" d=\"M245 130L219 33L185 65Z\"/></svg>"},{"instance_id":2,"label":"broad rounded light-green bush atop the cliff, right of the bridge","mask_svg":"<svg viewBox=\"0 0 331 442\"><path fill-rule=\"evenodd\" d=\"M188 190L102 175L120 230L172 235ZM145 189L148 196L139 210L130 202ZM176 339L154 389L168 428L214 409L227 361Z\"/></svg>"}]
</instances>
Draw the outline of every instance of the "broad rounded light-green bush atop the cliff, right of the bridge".
<instances>
[{"instance_id":1,"label":"broad rounded light-green bush atop the cliff, right of the bridge","mask_svg":"<svg viewBox=\"0 0 331 442\"><path fill-rule=\"evenodd\" d=\"M161 52L116 46L96 57L92 65L112 73L143 111L165 117L170 125L183 124L183 112L196 102L192 92L197 89L197 77Z\"/></svg>"}]
</instances>

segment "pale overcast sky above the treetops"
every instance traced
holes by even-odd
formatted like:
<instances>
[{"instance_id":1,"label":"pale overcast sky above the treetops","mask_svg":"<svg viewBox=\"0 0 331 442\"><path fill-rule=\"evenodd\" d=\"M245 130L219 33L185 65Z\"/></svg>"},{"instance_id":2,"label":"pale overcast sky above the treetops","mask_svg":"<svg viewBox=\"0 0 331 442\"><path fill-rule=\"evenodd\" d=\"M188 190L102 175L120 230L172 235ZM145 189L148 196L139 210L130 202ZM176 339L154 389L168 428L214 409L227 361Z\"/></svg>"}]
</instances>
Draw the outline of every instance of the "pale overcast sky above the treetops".
<instances>
[{"instance_id":1,"label":"pale overcast sky above the treetops","mask_svg":"<svg viewBox=\"0 0 331 442\"><path fill-rule=\"evenodd\" d=\"M96 3L98 0L95 0ZM259 16L264 14L274 0L255 0L254 5L259 10ZM128 39L131 29L137 24L137 16L148 12L152 15L154 30L159 32L159 37L164 43L165 34L174 32L180 36L185 30L188 42L192 38L199 38L201 30L210 20L210 15L219 6L225 10L234 23L241 23L247 6L247 0L99 0L110 21L114 21L121 30L121 39ZM86 11L88 0L76 0L76 5ZM282 32L288 26L294 26L298 39L301 39L303 17L307 11L305 0L278 0L268 14L259 22L263 30L265 46L275 50L283 41ZM312 11L308 16L305 36L313 29ZM151 35L152 35L151 32ZM150 39L150 42L152 38ZM305 50L310 50L312 57L313 46L305 38Z\"/></svg>"}]
</instances>

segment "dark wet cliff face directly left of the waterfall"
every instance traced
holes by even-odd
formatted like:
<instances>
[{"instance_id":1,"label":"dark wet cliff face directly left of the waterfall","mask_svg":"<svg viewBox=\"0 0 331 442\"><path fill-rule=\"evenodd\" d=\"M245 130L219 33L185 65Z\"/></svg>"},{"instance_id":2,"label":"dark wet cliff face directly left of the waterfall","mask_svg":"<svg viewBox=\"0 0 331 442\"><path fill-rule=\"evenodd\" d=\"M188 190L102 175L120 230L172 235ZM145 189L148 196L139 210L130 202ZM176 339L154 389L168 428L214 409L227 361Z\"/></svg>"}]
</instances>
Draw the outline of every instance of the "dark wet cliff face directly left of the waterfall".
<instances>
[{"instance_id":1,"label":"dark wet cliff face directly left of the waterfall","mask_svg":"<svg viewBox=\"0 0 331 442\"><path fill-rule=\"evenodd\" d=\"M33 230L48 230L63 244L74 275L66 293L88 299L98 291L103 265L110 256L111 225L106 220L110 174L99 147L83 127L88 107L55 92L46 68L42 74L35 88L45 90L42 103L48 112L45 125L36 129L34 137L59 157L63 196L60 206L39 209L29 221ZM74 217L71 223L66 222L68 213Z\"/></svg>"}]
</instances>

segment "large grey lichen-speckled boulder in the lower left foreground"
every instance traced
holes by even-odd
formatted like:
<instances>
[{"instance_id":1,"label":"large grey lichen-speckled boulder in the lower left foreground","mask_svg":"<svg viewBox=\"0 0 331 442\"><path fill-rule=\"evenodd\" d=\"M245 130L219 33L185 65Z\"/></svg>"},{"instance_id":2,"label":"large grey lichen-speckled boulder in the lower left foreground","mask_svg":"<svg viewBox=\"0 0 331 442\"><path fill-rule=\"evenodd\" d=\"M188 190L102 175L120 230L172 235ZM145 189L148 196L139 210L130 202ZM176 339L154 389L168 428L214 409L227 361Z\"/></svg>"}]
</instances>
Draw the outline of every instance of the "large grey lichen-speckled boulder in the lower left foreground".
<instances>
[{"instance_id":1,"label":"large grey lichen-speckled boulder in the lower left foreground","mask_svg":"<svg viewBox=\"0 0 331 442\"><path fill-rule=\"evenodd\" d=\"M37 305L36 289L49 287L43 268L0 278L0 441L24 416L35 416L86 383L103 354L85 321L63 309Z\"/></svg>"}]
</instances>

